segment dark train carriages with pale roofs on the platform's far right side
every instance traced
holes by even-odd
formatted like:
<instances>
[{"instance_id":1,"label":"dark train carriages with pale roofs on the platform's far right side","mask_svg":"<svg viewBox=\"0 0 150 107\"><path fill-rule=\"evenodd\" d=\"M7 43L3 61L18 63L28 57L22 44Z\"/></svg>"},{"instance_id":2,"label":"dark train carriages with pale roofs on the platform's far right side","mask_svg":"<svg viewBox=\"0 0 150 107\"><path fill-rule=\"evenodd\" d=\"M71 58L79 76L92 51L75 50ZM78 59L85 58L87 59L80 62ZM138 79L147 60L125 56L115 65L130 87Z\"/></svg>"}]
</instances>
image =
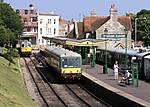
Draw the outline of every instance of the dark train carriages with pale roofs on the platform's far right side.
<instances>
[{"instance_id":1,"label":"dark train carriages with pale roofs on the platform's far right side","mask_svg":"<svg viewBox=\"0 0 150 107\"><path fill-rule=\"evenodd\" d=\"M110 68L113 68L115 61L119 62L119 66L125 68L125 49L97 49L96 63L104 65L106 63ZM150 80L150 52L137 52L127 50L128 69L134 64L138 65L138 73L141 79Z\"/></svg>"}]
</instances>

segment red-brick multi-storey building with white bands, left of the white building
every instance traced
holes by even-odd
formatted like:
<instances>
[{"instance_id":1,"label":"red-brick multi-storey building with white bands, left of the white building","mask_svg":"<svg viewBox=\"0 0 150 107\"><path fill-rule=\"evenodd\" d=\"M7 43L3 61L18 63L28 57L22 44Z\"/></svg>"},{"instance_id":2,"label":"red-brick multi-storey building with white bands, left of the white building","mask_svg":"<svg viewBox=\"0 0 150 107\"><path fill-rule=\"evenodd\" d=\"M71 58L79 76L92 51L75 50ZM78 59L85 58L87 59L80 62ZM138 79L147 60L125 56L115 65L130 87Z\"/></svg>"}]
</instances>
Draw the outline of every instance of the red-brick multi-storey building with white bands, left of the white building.
<instances>
[{"instance_id":1,"label":"red-brick multi-storey building with white bands, left of the white building","mask_svg":"<svg viewBox=\"0 0 150 107\"><path fill-rule=\"evenodd\" d=\"M16 13L21 16L21 22L23 24L21 39L30 40L32 44L35 45L38 30L37 11L33 5L30 4L28 9L16 9Z\"/></svg>"}]
</instances>

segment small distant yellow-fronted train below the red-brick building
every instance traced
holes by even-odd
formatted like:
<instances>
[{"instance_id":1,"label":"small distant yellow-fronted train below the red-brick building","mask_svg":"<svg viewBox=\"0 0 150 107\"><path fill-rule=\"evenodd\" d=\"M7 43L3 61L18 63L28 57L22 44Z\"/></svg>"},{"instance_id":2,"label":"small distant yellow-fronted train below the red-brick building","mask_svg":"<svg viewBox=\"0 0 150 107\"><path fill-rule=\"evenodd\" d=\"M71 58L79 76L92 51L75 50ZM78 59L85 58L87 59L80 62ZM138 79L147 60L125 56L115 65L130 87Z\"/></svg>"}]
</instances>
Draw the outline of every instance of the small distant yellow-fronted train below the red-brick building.
<instances>
[{"instance_id":1,"label":"small distant yellow-fronted train below the red-brick building","mask_svg":"<svg viewBox=\"0 0 150 107\"><path fill-rule=\"evenodd\" d=\"M24 40L21 42L20 53L21 55L31 55L32 44L30 41Z\"/></svg>"}]
</instances>

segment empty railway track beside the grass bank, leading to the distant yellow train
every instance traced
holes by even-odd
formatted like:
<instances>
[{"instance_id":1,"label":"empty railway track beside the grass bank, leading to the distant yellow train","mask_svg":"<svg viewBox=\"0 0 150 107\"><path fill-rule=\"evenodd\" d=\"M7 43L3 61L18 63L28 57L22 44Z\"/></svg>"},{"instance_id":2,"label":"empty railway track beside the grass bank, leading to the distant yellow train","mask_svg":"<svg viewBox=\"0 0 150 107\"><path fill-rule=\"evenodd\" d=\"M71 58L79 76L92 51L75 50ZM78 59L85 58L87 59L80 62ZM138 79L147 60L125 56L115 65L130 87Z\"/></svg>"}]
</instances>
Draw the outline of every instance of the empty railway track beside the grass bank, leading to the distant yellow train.
<instances>
[{"instance_id":1,"label":"empty railway track beside the grass bank, leading to the distant yellow train","mask_svg":"<svg viewBox=\"0 0 150 107\"><path fill-rule=\"evenodd\" d=\"M46 83L41 75L36 70L35 65L31 61L30 58L24 58L26 67L34 81L34 84L37 88L37 91L43 100L43 107L51 107L51 106L67 106L60 98L57 96L55 91Z\"/></svg>"}]
</instances>

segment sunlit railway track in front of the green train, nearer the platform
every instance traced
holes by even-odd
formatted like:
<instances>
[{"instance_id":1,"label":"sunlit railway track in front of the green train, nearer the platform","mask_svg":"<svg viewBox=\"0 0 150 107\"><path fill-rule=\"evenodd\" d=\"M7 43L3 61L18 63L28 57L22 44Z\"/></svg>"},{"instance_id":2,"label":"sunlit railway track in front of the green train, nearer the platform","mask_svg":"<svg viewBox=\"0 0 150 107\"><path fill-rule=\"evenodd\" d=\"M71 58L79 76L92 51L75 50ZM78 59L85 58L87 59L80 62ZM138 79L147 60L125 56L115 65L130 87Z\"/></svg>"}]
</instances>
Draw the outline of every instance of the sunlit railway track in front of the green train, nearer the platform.
<instances>
[{"instance_id":1,"label":"sunlit railway track in front of the green train, nearer the platform","mask_svg":"<svg viewBox=\"0 0 150 107\"><path fill-rule=\"evenodd\" d=\"M39 62L37 60L34 60L35 65L38 65L38 63ZM40 74L42 72L40 71ZM42 73L41 75L43 78L47 78L45 77L45 74ZM52 80L48 81L47 83L49 82L52 83ZM50 84L50 86L55 91L55 93L57 93L60 99L63 100L66 106L84 106L84 107L108 106L106 103L104 104L104 102L102 102L98 98L95 98L92 95L90 95L83 88L80 88L77 84L62 83L62 84Z\"/></svg>"}]
</instances>

